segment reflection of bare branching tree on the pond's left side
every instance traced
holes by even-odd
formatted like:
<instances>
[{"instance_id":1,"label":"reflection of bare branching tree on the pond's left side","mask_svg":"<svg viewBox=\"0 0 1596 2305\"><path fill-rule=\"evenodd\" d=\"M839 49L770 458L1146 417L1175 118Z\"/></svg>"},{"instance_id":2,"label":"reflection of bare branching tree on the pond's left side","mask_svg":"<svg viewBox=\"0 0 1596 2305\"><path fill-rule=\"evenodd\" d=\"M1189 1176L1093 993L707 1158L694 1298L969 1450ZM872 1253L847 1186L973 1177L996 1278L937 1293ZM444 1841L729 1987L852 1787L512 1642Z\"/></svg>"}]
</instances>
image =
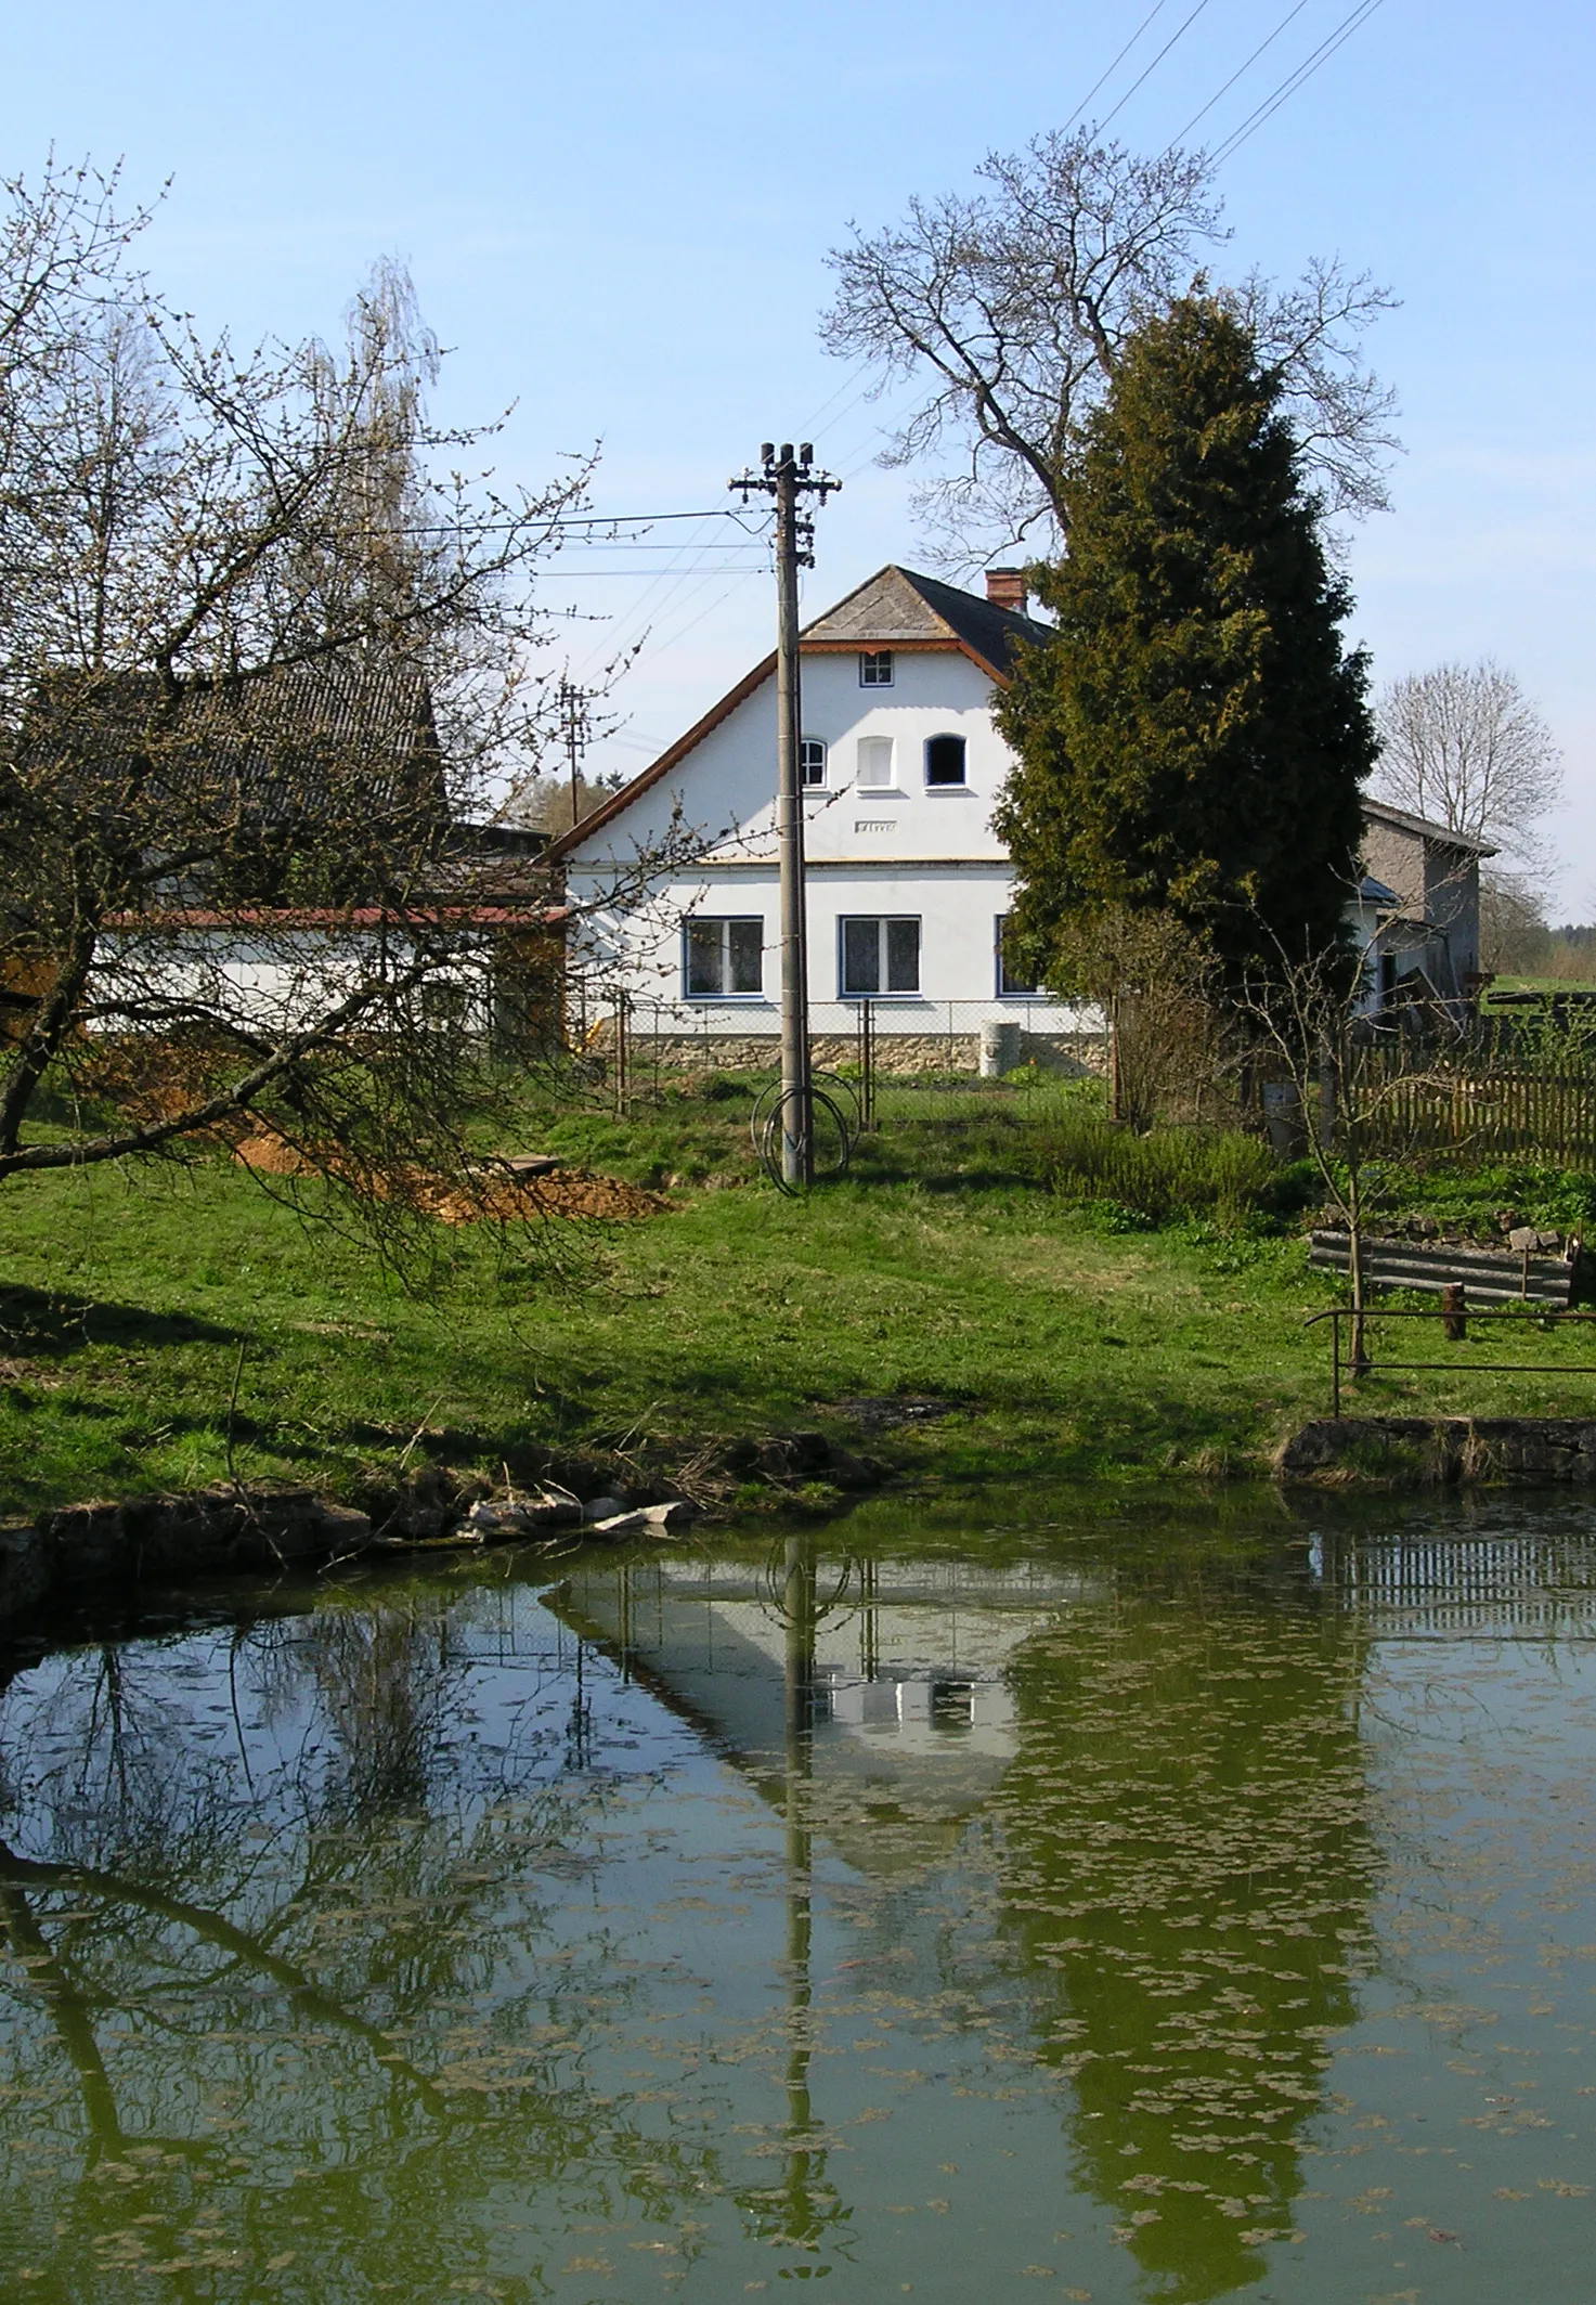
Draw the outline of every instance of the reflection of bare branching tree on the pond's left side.
<instances>
[{"instance_id":1,"label":"reflection of bare branching tree on the pond's left side","mask_svg":"<svg viewBox=\"0 0 1596 2305\"><path fill-rule=\"evenodd\" d=\"M601 1927L548 1939L615 1796L541 1731L456 1733L438 1604L200 1648L51 1660L0 1708L0 2141L28 2174L0 2247L28 2293L164 2266L256 2296L265 2217L283 2305L532 2298L497 2187L677 2224L712 2155L594 2095L571 2017L592 2035L633 1987Z\"/></svg>"}]
</instances>

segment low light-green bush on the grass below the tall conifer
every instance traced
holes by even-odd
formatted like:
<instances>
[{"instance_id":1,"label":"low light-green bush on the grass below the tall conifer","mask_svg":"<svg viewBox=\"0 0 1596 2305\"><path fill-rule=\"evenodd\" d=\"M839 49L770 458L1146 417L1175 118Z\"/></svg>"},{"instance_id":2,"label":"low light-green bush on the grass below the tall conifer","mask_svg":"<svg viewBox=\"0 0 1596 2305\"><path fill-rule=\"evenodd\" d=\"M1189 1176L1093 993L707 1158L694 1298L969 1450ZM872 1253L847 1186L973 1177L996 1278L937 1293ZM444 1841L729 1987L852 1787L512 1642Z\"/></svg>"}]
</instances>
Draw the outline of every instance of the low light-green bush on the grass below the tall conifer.
<instances>
[{"instance_id":1,"label":"low light-green bush on the grass below the tall conifer","mask_svg":"<svg viewBox=\"0 0 1596 2305\"><path fill-rule=\"evenodd\" d=\"M1041 1176L1062 1201L1115 1203L1149 1224L1216 1217L1237 1224L1280 1206L1269 1146L1237 1129L1149 1129L1135 1136L1099 1113L1066 1113L1041 1141Z\"/></svg>"}]
</instances>

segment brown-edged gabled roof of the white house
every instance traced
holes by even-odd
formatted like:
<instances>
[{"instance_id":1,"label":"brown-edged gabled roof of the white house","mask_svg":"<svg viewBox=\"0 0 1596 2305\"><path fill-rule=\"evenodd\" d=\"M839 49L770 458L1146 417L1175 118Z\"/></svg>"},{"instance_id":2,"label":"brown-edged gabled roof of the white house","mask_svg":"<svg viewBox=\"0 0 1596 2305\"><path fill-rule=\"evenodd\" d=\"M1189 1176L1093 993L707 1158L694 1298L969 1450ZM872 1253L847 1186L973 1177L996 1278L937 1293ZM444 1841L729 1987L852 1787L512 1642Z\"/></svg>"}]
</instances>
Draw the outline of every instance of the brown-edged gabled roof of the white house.
<instances>
[{"instance_id":1,"label":"brown-edged gabled roof of the white house","mask_svg":"<svg viewBox=\"0 0 1596 2305\"><path fill-rule=\"evenodd\" d=\"M845 599L838 599L834 609L827 609L824 615L818 615L813 625L804 625L799 648L813 652L845 648L956 648L990 680L1006 685L1016 645L1020 641L1046 641L1048 636L1050 627L1034 622L1029 615L1016 615L1013 609L1000 609L974 592L960 592L958 585L940 583L935 576L917 576L914 569L900 569L896 562L889 562L875 576L866 576L861 585L848 592ZM719 728L774 671L776 657L772 652L751 673L744 673L735 689L728 689L700 721L693 721L686 735L679 735L631 784L624 784L620 793L610 793L596 809L590 809L587 816L553 839L544 851L546 860L550 864L560 862L590 832L599 832L613 823L652 784L668 777L679 761L702 745L709 731Z\"/></svg>"}]
</instances>

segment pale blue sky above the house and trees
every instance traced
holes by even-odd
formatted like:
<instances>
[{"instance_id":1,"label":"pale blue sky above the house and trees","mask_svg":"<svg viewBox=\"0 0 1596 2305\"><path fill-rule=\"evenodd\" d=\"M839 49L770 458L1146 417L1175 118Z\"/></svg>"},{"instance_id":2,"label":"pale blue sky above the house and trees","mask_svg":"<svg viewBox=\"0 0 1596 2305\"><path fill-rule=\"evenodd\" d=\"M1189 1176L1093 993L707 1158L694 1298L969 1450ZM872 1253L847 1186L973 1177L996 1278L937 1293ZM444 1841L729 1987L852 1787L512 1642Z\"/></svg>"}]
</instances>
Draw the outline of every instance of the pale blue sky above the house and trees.
<instances>
[{"instance_id":1,"label":"pale blue sky above the house and trees","mask_svg":"<svg viewBox=\"0 0 1596 2305\"><path fill-rule=\"evenodd\" d=\"M1112 106L1195 0L1094 101ZM1292 0L1204 0L1112 129L1161 148ZM516 403L527 479L603 440L599 502L723 502L765 436L813 431L848 475L808 602L921 558L877 410L815 343L850 217L963 189L981 154L1062 124L1152 0L670 9L81 0L7 28L5 171L124 154L173 189L147 256L207 325L334 332L378 254L405 258L454 348L442 413ZM1204 122L1218 138L1352 0L1306 0ZM1596 12L1382 0L1228 161L1237 263L1340 254L1400 297L1375 362L1403 403L1391 514L1354 537L1356 632L1382 678L1495 652L1566 754L1561 910L1596 917ZM827 406L831 403L831 406ZM576 556L571 657L652 627L610 765L640 765L767 645L758 558L712 526L675 556ZM661 572L656 574L656 562ZM645 569L645 574L636 574Z\"/></svg>"}]
</instances>

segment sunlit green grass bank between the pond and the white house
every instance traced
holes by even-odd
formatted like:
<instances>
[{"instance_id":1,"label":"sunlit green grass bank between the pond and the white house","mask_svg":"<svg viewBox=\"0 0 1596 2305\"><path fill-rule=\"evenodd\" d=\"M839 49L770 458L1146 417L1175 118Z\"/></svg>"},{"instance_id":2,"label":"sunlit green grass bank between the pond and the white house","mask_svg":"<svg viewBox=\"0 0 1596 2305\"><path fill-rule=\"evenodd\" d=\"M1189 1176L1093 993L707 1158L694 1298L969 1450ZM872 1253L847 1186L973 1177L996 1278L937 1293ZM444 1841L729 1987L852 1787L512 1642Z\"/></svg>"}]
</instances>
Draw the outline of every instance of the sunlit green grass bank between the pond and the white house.
<instances>
[{"instance_id":1,"label":"sunlit green grass bank between the pond and the white house","mask_svg":"<svg viewBox=\"0 0 1596 2305\"><path fill-rule=\"evenodd\" d=\"M1085 1109L1052 1127L995 1109L894 1123L850 1180L795 1203L753 1178L746 1090L725 1083L626 1123L523 1111L504 1146L530 1143L670 1206L507 1242L440 1231L438 1293L410 1298L221 1157L9 1185L0 1507L228 1468L348 1491L405 1452L516 1468L548 1448L852 1436L854 1401L896 1395L953 1404L924 1427L866 1413L868 1445L912 1478L1138 1484L1262 1471L1324 1413L1327 1342L1304 1321L1333 1286L1253 1148L1184 1150L1175 1189L1175 1152L1110 1141ZM1506 1189L1442 1182L1474 1203ZM1543 1180L1543 1201L1559 1192ZM1587 1358L1573 1337L1534 1353ZM1594 1401L1578 1376L1439 1376L1375 1378L1361 1406Z\"/></svg>"}]
</instances>

